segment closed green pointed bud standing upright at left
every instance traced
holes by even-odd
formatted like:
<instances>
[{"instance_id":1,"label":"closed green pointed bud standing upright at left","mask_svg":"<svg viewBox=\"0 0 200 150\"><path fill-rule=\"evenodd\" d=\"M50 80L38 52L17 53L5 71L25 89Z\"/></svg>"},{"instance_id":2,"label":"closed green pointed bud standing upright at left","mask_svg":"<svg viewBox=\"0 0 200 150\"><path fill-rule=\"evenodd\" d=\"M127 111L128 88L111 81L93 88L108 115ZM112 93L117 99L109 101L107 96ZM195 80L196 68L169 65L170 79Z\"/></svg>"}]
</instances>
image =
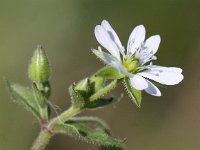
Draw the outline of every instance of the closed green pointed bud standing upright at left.
<instances>
[{"instance_id":1,"label":"closed green pointed bud standing upright at left","mask_svg":"<svg viewBox=\"0 0 200 150\"><path fill-rule=\"evenodd\" d=\"M38 45L29 65L29 78L36 82L45 82L50 76L50 66L47 55L41 45Z\"/></svg>"}]
</instances>

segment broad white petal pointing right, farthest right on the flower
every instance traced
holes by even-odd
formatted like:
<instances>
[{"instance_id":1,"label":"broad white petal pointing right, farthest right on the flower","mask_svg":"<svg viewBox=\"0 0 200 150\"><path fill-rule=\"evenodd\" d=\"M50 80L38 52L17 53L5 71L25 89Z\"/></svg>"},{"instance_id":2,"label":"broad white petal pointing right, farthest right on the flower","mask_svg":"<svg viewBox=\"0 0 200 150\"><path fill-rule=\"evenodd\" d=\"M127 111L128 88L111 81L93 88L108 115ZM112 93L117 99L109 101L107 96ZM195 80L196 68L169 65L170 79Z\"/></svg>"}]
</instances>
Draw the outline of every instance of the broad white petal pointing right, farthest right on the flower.
<instances>
[{"instance_id":1,"label":"broad white petal pointing right, farthest right on the flower","mask_svg":"<svg viewBox=\"0 0 200 150\"><path fill-rule=\"evenodd\" d=\"M143 71L138 74L145 78L166 85L175 85L183 80L183 75L181 74L180 68L177 69L175 67L159 67L157 67L157 69L155 69L154 67L151 69L150 67L149 70Z\"/></svg>"}]
</instances>

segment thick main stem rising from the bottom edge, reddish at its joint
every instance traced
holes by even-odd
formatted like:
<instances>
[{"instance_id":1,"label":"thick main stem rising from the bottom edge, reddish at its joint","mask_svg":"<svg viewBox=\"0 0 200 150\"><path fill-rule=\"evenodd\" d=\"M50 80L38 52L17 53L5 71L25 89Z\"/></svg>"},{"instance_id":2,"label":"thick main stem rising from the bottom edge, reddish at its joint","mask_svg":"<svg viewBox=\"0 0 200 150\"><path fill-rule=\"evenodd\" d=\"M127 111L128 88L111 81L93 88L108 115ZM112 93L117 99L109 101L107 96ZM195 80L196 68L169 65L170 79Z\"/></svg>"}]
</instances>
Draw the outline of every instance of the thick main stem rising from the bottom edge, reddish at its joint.
<instances>
[{"instance_id":1,"label":"thick main stem rising from the bottom edge, reddish at its joint","mask_svg":"<svg viewBox=\"0 0 200 150\"><path fill-rule=\"evenodd\" d=\"M49 143L51 137L55 134L53 131L54 125L57 123L64 123L67 119L78 114L81 110L75 107L70 107L68 110L60 114L58 117L52 119L48 124L41 125L41 131L35 140L31 150L44 150Z\"/></svg>"}]
</instances>

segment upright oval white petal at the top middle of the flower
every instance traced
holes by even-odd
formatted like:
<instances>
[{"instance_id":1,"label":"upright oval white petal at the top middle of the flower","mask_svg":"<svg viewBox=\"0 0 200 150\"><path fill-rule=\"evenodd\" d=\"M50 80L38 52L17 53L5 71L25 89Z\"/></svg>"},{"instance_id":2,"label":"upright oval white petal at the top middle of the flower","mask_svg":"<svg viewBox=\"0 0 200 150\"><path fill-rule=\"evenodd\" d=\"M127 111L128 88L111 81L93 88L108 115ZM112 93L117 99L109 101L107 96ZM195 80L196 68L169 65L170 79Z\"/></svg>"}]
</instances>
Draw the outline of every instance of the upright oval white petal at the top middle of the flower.
<instances>
[{"instance_id":1,"label":"upright oval white petal at the top middle of the flower","mask_svg":"<svg viewBox=\"0 0 200 150\"><path fill-rule=\"evenodd\" d=\"M143 25L136 26L131 32L127 44L127 55L132 56L141 46L145 39L145 27Z\"/></svg>"}]
</instances>

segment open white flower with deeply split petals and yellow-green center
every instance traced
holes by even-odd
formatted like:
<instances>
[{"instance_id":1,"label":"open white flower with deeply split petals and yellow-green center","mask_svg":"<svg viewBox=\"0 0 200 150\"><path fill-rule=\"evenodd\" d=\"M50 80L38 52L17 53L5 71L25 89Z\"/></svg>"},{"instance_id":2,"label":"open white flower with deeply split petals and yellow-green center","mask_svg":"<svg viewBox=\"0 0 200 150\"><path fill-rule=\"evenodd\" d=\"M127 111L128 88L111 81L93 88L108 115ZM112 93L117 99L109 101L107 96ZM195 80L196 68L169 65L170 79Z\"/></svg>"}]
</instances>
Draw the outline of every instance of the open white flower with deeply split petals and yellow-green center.
<instances>
[{"instance_id":1,"label":"open white flower with deeply split petals and yellow-green center","mask_svg":"<svg viewBox=\"0 0 200 150\"><path fill-rule=\"evenodd\" d=\"M160 90L148 79L165 85L175 85L183 80L181 68L152 65L151 61L156 59L154 55L161 39L159 35L154 35L145 40L143 25L133 29L126 53L117 34L106 20L95 27L95 36L111 54L103 52L99 47L98 50L104 61L120 73L127 75L135 89L145 90L153 96L161 96Z\"/></svg>"}]
</instances>

